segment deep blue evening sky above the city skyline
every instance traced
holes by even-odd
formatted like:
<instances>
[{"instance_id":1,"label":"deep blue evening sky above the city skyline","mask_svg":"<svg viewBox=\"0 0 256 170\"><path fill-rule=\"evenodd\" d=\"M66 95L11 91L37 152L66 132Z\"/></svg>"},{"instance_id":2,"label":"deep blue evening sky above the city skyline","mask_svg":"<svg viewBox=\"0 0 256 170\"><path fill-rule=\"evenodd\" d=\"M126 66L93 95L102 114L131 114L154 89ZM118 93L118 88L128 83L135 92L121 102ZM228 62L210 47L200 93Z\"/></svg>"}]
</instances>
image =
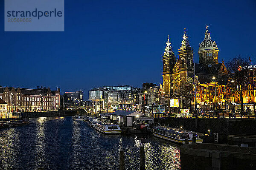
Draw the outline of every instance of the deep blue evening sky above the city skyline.
<instances>
[{"instance_id":1,"label":"deep blue evening sky above the city skyline","mask_svg":"<svg viewBox=\"0 0 256 170\"><path fill-rule=\"evenodd\" d=\"M4 32L0 1L0 85L50 86L61 92L107 85L162 83L168 34L178 53L183 29L198 62L209 26L219 62L236 55L256 63L256 1L65 0L64 32Z\"/></svg>"}]
</instances>

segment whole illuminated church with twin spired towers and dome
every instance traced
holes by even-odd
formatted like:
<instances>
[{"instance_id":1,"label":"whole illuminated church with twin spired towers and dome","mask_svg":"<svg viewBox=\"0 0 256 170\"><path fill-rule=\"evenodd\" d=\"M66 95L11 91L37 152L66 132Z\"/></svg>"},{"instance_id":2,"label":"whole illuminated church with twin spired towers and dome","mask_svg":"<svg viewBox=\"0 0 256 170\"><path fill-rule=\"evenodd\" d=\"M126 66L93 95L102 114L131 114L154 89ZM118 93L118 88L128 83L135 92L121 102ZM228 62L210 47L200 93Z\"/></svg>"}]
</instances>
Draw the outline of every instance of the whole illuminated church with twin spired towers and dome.
<instances>
[{"instance_id":1,"label":"whole illuminated church with twin spired towers and dome","mask_svg":"<svg viewBox=\"0 0 256 170\"><path fill-rule=\"evenodd\" d=\"M193 48L189 45L186 28L184 28L183 41L178 49L177 59L168 36L163 54L163 98L167 109L170 99L174 98L180 99L180 108L189 108L191 106L191 101L187 102L185 100L189 96L182 99L184 97L182 91L185 90L182 84L190 83L194 87L195 75L196 83L198 84L212 82L212 77L218 78L223 74L227 74L227 68L223 60L221 63L218 62L218 46L211 39L208 26L206 26L204 35L204 40L199 44L199 63L194 63ZM191 92L193 92L192 89ZM190 99L191 96L193 98L192 93L190 94Z\"/></svg>"}]
</instances>

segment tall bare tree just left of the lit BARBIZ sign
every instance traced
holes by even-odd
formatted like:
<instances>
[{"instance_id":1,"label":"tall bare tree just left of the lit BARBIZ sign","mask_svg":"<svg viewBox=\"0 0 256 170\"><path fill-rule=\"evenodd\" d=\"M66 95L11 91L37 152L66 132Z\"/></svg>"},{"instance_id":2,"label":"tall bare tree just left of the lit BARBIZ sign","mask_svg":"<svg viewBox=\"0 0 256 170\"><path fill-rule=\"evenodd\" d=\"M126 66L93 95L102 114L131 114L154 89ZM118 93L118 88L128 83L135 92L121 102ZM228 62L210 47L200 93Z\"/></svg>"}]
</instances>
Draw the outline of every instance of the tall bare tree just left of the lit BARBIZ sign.
<instances>
[{"instance_id":1,"label":"tall bare tree just left of the lit BARBIZ sign","mask_svg":"<svg viewBox=\"0 0 256 170\"><path fill-rule=\"evenodd\" d=\"M246 67L248 65L248 60L241 56L236 56L227 62L227 70L232 74L234 79L234 90L239 94L241 112L244 112L243 92L247 91L250 85L250 82L248 81L248 72L250 69L247 69Z\"/></svg>"}]
</instances>

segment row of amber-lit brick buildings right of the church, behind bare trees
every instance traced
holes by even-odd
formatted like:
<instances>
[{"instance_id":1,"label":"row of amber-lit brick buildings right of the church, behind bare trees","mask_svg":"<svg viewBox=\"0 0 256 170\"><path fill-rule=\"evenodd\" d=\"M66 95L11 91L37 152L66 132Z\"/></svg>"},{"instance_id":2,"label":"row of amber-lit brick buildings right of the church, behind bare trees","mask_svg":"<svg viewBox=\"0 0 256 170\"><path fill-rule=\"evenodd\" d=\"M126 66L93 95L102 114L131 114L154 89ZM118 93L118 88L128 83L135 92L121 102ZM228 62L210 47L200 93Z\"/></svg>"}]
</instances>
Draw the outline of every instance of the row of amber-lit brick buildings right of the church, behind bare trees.
<instances>
[{"instance_id":1,"label":"row of amber-lit brick buildings right of the church, behind bare trees","mask_svg":"<svg viewBox=\"0 0 256 170\"><path fill-rule=\"evenodd\" d=\"M256 68L248 70L247 79L249 87L243 91L243 105L245 110L254 113L256 109ZM196 88L198 108L204 111L213 110L215 103L217 103L217 108L225 108L226 98L228 110L231 108L240 109L239 93L234 90L235 87L232 86L232 83L230 84L230 87L228 87L228 85L220 85L216 82L217 102L215 102L215 82L198 84ZM225 92L226 96L224 96L224 91L227 91Z\"/></svg>"}]
</instances>

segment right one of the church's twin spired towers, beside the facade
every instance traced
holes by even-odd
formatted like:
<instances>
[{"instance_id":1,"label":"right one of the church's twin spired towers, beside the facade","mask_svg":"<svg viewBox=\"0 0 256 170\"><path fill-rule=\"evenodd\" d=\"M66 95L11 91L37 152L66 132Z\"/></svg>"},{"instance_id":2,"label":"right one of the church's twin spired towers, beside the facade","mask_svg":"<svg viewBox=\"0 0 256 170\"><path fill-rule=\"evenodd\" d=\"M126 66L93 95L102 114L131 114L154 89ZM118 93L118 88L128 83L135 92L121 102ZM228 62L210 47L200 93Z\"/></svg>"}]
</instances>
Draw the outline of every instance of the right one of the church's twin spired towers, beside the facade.
<instances>
[{"instance_id":1,"label":"right one of the church's twin spired towers, beside the facade","mask_svg":"<svg viewBox=\"0 0 256 170\"><path fill-rule=\"evenodd\" d=\"M184 28L183 41L179 49L179 59L177 59L173 69L173 80L175 92L180 91L180 82L186 80L186 77L194 76L193 49L189 45L186 28Z\"/></svg>"}]
</instances>

